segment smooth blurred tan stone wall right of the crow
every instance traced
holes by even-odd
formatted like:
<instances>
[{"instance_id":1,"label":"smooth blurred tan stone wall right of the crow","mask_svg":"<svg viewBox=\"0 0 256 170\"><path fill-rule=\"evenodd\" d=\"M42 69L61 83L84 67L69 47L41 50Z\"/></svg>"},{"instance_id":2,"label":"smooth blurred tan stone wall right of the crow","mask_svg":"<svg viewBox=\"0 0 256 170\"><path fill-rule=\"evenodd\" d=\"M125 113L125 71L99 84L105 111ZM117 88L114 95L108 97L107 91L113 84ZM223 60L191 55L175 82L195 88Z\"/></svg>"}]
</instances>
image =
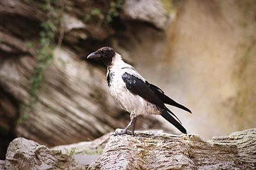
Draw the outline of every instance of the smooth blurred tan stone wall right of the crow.
<instances>
[{"instance_id":1,"label":"smooth blurred tan stone wall right of the crow","mask_svg":"<svg viewBox=\"0 0 256 170\"><path fill-rule=\"evenodd\" d=\"M256 126L255 15L253 0L183 1L164 34L135 25L120 52L191 109L193 115L170 107L188 132L224 136Z\"/></svg>"}]
</instances>

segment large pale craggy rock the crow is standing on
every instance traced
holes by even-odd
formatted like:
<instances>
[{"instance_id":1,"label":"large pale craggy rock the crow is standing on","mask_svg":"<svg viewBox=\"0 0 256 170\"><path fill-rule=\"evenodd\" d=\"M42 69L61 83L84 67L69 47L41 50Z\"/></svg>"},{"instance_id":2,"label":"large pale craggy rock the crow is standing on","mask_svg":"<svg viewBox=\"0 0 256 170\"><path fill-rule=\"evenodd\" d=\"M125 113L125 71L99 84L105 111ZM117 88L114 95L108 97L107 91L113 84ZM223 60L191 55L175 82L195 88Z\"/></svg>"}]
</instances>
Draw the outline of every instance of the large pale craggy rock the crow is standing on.
<instances>
[{"instance_id":1,"label":"large pale craggy rock the crow is standing on","mask_svg":"<svg viewBox=\"0 0 256 170\"><path fill-rule=\"evenodd\" d=\"M100 165L101 169L254 169L255 153L256 129L212 141L195 134L148 131L135 137L111 136Z\"/></svg>"}]
</instances>

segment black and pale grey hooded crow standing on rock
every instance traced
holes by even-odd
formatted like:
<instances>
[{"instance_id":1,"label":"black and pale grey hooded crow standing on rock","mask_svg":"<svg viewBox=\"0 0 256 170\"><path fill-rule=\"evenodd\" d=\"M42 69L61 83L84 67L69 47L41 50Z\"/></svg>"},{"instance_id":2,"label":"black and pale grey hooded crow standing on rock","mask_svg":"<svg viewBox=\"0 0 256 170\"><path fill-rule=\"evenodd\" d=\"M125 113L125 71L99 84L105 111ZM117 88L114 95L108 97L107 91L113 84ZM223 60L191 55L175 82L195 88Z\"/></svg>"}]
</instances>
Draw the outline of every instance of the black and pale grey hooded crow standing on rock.
<instances>
[{"instance_id":1,"label":"black and pale grey hooded crow standing on rock","mask_svg":"<svg viewBox=\"0 0 256 170\"><path fill-rule=\"evenodd\" d=\"M137 117L146 114L161 115L180 132L187 134L179 118L165 104L170 104L189 113L192 113L191 110L170 99L156 85L148 83L134 67L124 62L122 55L116 53L113 48L104 46L87 56L87 59L95 58L102 60L107 67L106 78L111 96L122 109L130 113L129 124L124 131L118 134L130 134L128 129L131 127L131 134L134 136Z\"/></svg>"}]
</instances>

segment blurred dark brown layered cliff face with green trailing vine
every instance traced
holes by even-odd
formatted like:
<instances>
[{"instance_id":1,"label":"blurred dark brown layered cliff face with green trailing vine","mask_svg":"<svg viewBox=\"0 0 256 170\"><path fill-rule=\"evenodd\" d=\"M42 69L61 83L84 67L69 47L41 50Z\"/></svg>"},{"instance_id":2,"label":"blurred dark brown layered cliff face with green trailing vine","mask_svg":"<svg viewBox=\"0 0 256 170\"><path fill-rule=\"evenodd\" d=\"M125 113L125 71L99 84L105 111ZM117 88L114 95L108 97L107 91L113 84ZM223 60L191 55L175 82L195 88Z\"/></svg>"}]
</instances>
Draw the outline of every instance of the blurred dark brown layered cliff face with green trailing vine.
<instances>
[{"instance_id":1,"label":"blurred dark brown layered cliff face with green trailing vine","mask_svg":"<svg viewBox=\"0 0 256 170\"><path fill-rule=\"evenodd\" d=\"M129 122L109 95L106 69L82 57L100 46L115 46L111 36L127 29L125 20L148 21L161 29L169 18L164 10L157 13L163 8L159 1L151 1L147 8L154 13L144 15L140 6L146 1L138 7L121 1L54 2L0 2L0 125L49 146L97 138ZM122 16L121 6L126 6ZM150 15L161 20L150 21ZM142 129L161 127L150 117L140 122Z\"/></svg>"}]
</instances>

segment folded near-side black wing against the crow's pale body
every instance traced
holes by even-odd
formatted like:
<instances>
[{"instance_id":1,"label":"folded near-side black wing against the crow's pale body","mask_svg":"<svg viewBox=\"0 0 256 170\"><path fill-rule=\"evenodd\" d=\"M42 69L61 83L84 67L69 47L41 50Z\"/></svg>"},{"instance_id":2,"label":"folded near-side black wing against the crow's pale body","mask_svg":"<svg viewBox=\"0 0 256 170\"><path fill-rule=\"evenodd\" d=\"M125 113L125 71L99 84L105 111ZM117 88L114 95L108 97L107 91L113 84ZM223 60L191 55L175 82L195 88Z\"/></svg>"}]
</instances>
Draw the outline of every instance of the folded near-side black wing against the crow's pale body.
<instances>
[{"instance_id":1,"label":"folded near-side black wing against the crow's pale body","mask_svg":"<svg viewBox=\"0 0 256 170\"><path fill-rule=\"evenodd\" d=\"M168 111L173 115L173 117L177 118L176 115L172 113L172 111L170 111L168 108L166 108L166 106L164 106L164 103L161 99L159 99L159 96L157 96L157 94L155 94L154 91L150 89L150 87L148 87L148 85L143 80L129 73L124 73L122 75L122 79L125 82L126 88L130 92L132 92L133 94L137 94L138 96L149 101L150 103L156 104L156 106L158 106L162 110ZM179 118L177 118L177 120L179 120Z\"/></svg>"}]
</instances>

